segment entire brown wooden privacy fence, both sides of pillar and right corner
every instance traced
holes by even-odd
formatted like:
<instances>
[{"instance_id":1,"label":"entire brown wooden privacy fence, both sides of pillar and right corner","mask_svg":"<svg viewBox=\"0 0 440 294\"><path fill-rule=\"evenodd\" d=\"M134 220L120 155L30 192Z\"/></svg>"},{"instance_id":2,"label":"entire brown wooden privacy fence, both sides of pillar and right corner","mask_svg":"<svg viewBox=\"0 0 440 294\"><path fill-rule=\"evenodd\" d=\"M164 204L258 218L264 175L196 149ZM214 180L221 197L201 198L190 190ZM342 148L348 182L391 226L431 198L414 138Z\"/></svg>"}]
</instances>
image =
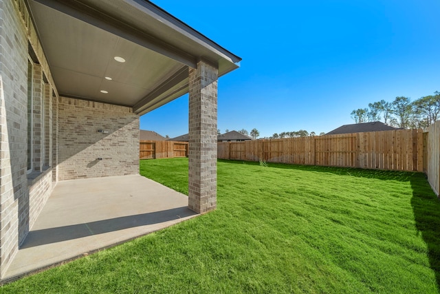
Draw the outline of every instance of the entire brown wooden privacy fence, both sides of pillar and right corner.
<instances>
[{"instance_id":1,"label":"entire brown wooden privacy fence, both sides of pillar and right corner","mask_svg":"<svg viewBox=\"0 0 440 294\"><path fill-rule=\"evenodd\" d=\"M188 157L188 142L140 141L140 159ZM423 171L440 192L440 121L421 129L399 129L276 140L220 142L217 158L298 165Z\"/></svg>"}]
</instances>

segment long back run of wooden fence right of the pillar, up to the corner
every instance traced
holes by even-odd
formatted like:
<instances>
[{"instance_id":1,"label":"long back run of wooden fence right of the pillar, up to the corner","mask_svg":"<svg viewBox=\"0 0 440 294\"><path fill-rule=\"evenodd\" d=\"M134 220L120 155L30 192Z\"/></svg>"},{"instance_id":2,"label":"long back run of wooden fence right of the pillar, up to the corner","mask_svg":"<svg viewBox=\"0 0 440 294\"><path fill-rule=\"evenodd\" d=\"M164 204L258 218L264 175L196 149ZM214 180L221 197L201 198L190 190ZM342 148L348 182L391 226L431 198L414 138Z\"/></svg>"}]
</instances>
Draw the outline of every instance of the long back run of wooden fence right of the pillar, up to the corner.
<instances>
[{"instance_id":1,"label":"long back run of wooden fence right of the pillar, up to the corner","mask_svg":"<svg viewBox=\"0 0 440 294\"><path fill-rule=\"evenodd\" d=\"M440 127L438 129L440 130ZM437 150L438 148L439 145ZM276 140L221 142L218 143L217 157L298 165L423 171L423 131L399 129Z\"/></svg>"}]
</instances>

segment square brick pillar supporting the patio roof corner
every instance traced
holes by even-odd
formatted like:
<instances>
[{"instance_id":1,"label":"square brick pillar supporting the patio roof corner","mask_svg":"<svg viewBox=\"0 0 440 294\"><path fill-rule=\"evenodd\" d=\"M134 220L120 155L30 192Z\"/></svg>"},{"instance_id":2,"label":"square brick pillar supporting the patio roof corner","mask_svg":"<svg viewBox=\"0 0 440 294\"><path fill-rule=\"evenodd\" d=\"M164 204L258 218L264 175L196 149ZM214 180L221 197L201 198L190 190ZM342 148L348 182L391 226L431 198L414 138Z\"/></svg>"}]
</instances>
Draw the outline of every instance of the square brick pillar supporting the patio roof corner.
<instances>
[{"instance_id":1,"label":"square brick pillar supporting the patio roof corner","mask_svg":"<svg viewBox=\"0 0 440 294\"><path fill-rule=\"evenodd\" d=\"M197 213L217 207L217 78L204 61L189 69L188 207Z\"/></svg>"}]
</instances>

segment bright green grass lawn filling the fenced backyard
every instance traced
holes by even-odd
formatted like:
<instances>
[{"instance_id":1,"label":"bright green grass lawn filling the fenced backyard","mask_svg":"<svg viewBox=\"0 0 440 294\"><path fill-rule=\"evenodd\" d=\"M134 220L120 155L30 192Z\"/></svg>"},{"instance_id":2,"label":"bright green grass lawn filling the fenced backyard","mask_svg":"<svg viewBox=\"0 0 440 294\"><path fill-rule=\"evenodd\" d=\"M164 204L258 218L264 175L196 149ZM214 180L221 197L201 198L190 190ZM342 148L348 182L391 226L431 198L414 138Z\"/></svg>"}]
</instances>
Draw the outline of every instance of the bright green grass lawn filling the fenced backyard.
<instances>
[{"instance_id":1,"label":"bright green grass lawn filling the fenced backyard","mask_svg":"<svg viewBox=\"0 0 440 294\"><path fill-rule=\"evenodd\" d=\"M141 174L188 193L186 158ZM219 161L218 207L6 293L439 293L440 203L419 173Z\"/></svg>"}]
</instances>

